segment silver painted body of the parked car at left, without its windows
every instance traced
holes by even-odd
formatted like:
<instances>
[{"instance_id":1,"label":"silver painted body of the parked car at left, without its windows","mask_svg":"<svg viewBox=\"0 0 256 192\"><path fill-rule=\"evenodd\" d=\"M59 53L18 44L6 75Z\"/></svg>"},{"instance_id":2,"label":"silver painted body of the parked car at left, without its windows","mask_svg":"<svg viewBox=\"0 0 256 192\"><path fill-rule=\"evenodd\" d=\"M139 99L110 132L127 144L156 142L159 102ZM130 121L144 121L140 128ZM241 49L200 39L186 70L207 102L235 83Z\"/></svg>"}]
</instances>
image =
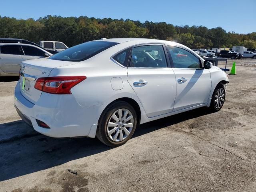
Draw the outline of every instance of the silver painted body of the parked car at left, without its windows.
<instances>
[{"instance_id":1,"label":"silver painted body of the parked car at left, without its windows","mask_svg":"<svg viewBox=\"0 0 256 192\"><path fill-rule=\"evenodd\" d=\"M45 56L27 55L22 50L22 46L30 46L30 47L33 47L34 49L41 50L42 52L48 54L49 56L52 56L50 52L47 52L40 47L30 45L30 44L22 44L22 43L0 43L0 51L1 51L1 46L4 46L4 45L20 46L22 52L19 55L3 54L0 52L0 76L19 76L20 63L22 61L45 57Z\"/></svg>"}]
</instances>

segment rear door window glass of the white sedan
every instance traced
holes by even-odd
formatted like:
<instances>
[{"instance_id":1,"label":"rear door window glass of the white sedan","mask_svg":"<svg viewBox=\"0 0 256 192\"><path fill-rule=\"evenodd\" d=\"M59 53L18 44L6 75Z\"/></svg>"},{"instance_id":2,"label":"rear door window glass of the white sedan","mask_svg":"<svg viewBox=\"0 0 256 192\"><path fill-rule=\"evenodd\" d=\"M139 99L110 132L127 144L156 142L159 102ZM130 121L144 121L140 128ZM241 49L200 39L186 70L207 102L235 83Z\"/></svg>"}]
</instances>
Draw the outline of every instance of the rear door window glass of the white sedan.
<instances>
[{"instance_id":1,"label":"rear door window glass of the white sedan","mask_svg":"<svg viewBox=\"0 0 256 192\"><path fill-rule=\"evenodd\" d=\"M167 67L163 46L148 45L133 48L130 67Z\"/></svg>"}]
</instances>

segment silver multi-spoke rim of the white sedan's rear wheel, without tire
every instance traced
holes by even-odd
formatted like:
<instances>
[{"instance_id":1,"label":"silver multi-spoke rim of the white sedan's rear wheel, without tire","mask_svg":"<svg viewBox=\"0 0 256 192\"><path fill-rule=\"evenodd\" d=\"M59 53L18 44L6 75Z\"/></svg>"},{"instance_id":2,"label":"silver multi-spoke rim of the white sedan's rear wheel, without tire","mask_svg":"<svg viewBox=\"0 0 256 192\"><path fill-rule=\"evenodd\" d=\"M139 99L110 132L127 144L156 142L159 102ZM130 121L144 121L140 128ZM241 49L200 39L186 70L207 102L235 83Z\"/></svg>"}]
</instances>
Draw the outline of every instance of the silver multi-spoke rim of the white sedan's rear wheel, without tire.
<instances>
[{"instance_id":1,"label":"silver multi-spoke rim of the white sedan's rear wheel, without tire","mask_svg":"<svg viewBox=\"0 0 256 192\"><path fill-rule=\"evenodd\" d=\"M107 124L108 137L114 142L120 142L132 131L134 118L130 110L122 108L110 116Z\"/></svg>"}]
</instances>

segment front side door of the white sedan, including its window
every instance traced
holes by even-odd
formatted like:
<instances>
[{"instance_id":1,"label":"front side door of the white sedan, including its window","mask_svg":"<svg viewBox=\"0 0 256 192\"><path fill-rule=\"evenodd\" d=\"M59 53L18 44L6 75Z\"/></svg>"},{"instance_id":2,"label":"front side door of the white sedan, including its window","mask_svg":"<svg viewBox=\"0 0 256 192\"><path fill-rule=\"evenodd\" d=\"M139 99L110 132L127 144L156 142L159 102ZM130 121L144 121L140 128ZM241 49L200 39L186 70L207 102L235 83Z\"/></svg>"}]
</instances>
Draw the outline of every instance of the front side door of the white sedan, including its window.
<instances>
[{"instance_id":1,"label":"front side door of the white sedan, including its window","mask_svg":"<svg viewBox=\"0 0 256 192\"><path fill-rule=\"evenodd\" d=\"M178 46L167 46L176 77L177 94L173 111L178 111L208 101L211 78L208 69L203 69L200 59Z\"/></svg>"}]
</instances>

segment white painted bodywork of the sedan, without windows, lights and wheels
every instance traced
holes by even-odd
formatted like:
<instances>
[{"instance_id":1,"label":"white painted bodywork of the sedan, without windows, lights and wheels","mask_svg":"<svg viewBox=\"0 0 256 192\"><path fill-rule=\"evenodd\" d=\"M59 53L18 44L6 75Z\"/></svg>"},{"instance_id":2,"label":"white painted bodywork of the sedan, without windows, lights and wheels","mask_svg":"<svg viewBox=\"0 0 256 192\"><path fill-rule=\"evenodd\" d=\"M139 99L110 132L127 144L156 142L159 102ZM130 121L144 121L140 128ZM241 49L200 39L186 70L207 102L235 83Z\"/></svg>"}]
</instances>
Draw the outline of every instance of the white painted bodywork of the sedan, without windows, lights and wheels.
<instances>
[{"instance_id":1,"label":"white painted bodywork of the sedan, without windows, lights and wheels","mask_svg":"<svg viewBox=\"0 0 256 192\"><path fill-rule=\"evenodd\" d=\"M14 104L32 122L34 129L51 137L95 137L100 115L111 102L130 98L141 113L140 124L171 116L202 106L210 106L216 85L228 82L226 73L212 66L210 69L187 68L130 68L114 62L112 56L125 48L138 44L168 44L180 46L204 60L192 50L174 42L152 39L108 39L119 44L81 62L29 60L22 62L29 75L86 76L87 79L71 89L72 94L56 95L34 89L21 89L22 77L17 83ZM23 69L22 69L23 70ZM42 71L46 72L42 74ZM23 72L23 71L22 71ZM179 78L188 80L179 84ZM148 84L135 86L145 80ZM38 126L36 119L50 129Z\"/></svg>"}]
</instances>

